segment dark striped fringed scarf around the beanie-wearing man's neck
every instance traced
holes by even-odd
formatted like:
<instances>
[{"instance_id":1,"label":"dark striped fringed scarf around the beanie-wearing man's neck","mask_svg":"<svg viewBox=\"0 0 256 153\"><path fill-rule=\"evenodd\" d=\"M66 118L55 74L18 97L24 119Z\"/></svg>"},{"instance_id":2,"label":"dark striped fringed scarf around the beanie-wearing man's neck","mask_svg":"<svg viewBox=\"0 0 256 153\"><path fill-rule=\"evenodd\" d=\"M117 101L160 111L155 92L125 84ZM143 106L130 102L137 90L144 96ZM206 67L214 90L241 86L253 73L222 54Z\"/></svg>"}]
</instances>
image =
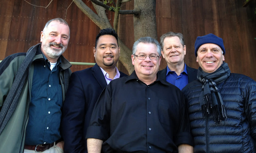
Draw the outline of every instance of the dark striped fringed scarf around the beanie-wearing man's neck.
<instances>
[{"instance_id":1,"label":"dark striped fringed scarf around the beanie-wearing man's neck","mask_svg":"<svg viewBox=\"0 0 256 153\"><path fill-rule=\"evenodd\" d=\"M205 113L213 113L215 123L227 119L225 106L216 83L224 81L229 76L229 66L225 62L213 73L206 73L201 67L198 69L197 79L203 84L199 97L202 113L203 116Z\"/></svg>"}]
</instances>

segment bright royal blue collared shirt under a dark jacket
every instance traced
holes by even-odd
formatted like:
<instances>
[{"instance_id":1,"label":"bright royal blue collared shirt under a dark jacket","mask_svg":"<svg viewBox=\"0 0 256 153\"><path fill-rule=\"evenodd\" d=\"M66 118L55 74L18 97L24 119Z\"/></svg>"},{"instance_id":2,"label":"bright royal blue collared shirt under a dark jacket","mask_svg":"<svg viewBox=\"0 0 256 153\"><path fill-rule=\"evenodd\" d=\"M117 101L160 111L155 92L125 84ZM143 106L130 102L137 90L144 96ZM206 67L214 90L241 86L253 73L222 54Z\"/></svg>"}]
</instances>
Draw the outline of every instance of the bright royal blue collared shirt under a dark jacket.
<instances>
[{"instance_id":1,"label":"bright royal blue collared shirt under a dark jacket","mask_svg":"<svg viewBox=\"0 0 256 153\"><path fill-rule=\"evenodd\" d=\"M189 83L187 77L187 65L185 64L184 71L182 71L179 76L175 71L171 71L167 66L166 81L182 90L182 88L184 88Z\"/></svg>"}]
</instances>

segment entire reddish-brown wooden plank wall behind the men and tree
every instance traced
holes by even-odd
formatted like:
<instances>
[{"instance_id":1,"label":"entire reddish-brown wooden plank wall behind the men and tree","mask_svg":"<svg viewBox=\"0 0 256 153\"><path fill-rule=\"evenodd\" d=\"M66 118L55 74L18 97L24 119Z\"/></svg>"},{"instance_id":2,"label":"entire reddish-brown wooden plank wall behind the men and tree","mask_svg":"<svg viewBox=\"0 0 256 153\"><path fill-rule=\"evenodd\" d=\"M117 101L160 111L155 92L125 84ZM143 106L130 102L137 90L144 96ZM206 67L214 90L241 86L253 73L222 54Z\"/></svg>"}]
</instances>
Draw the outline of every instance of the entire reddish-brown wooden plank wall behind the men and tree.
<instances>
[{"instance_id":1,"label":"entire reddish-brown wooden plank wall behind the men and tree","mask_svg":"<svg viewBox=\"0 0 256 153\"><path fill-rule=\"evenodd\" d=\"M47 6L50 1L27 0L38 6ZM16 52L26 52L29 47L39 43L45 23L60 17L66 19L71 27L71 38L64 56L72 62L95 62L92 48L100 29L71 0L53 0L47 8L27 2L0 1L0 60ZM93 8L90 1L84 2ZM224 40L225 62L229 64L231 72L245 74L256 80L256 1L250 1L246 7L243 7L243 2L156 0L158 40L169 31L183 33L187 46L185 62L198 68L194 56L195 39L197 36L214 33ZM133 9L133 1L123 5L122 9ZM108 17L113 19L113 13L108 11ZM118 35L130 49L134 43L132 21L133 15L120 15ZM73 65L72 71L87 67L90 66ZM162 60L160 69L165 67L166 62ZM127 73L121 62L118 69Z\"/></svg>"}]
</instances>

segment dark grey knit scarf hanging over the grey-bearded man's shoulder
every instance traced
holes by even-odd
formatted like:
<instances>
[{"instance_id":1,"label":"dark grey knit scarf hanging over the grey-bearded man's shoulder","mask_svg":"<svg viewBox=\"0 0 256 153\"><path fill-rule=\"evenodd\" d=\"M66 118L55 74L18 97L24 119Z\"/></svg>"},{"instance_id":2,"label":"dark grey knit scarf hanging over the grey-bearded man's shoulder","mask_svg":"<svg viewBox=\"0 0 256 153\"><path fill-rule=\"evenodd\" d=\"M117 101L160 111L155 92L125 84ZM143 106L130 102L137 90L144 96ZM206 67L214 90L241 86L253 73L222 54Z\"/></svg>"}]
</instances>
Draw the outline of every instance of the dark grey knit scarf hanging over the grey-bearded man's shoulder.
<instances>
[{"instance_id":1,"label":"dark grey knit scarf hanging over the grey-bearded man's shoulder","mask_svg":"<svg viewBox=\"0 0 256 153\"><path fill-rule=\"evenodd\" d=\"M9 121L11 115L14 112L14 109L17 106L19 96L23 89L23 85L25 84L28 76L29 66L32 63L35 53L37 52L37 48L41 43L32 46L26 53L26 57L20 65L17 75L15 76L14 82L11 86L11 89L3 103L1 112L0 112L0 134L2 133L5 125Z\"/></svg>"}]
</instances>

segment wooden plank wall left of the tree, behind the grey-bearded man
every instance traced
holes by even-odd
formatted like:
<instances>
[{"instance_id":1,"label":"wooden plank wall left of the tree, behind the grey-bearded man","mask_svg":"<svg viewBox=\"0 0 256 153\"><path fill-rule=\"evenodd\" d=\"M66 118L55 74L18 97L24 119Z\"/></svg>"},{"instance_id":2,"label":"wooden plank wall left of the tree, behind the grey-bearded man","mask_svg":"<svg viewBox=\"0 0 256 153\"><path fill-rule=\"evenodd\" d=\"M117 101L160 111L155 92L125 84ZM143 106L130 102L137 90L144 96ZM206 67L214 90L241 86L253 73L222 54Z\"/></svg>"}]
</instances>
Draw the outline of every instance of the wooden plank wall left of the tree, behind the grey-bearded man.
<instances>
[{"instance_id":1,"label":"wooden plank wall left of the tree, behind the grey-bearded man","mask_svg":"<svg viewBox=\"0 0 256 153\"><path fill-rule=\"evenodd\" d=\"M95 62L93 47L100 29L72 0L26 1L0 1L0 60L13 53L26 52L40 43L40 33L46 22L59 17L65 19L71 28L64 56L72 62ZM93 8L90 1L85 3ZM108 16L111 18L111 14ZM91 66L73 65L71 69L77 71L87 67Z\"/></svg>"}]
</instances>

